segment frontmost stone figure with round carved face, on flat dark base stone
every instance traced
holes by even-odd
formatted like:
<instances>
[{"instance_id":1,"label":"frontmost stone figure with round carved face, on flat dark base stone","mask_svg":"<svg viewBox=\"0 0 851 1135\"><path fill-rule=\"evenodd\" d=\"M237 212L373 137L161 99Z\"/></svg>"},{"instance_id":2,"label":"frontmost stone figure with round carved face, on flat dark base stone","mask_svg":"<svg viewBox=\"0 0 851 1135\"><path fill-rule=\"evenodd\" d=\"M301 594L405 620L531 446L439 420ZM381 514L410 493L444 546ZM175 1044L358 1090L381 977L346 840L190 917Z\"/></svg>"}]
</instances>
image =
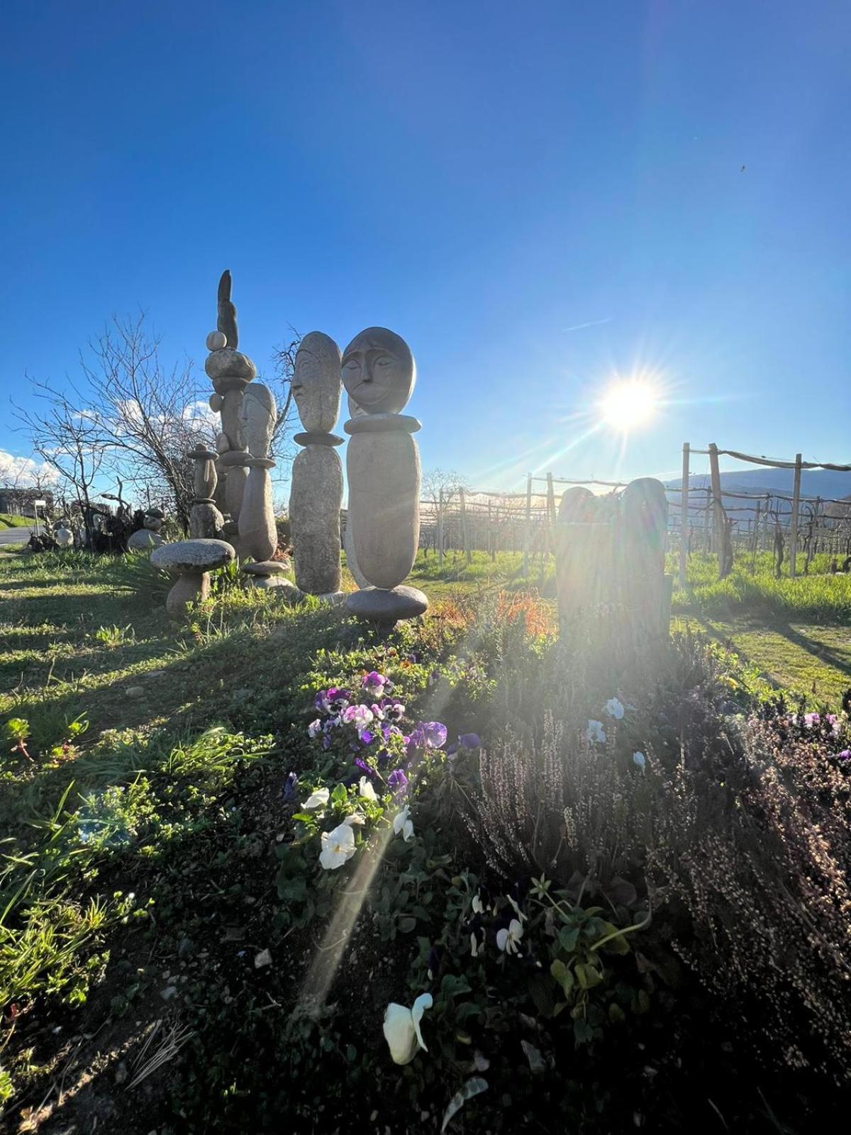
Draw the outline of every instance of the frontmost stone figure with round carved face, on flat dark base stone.
<instances>
[{"instance_id":1,"label":"frontmost stone figure with round carved face, on flat dark base stone","mask_svg":"<svg viewBox=\"0 0 851 1135\"><path fill-rule=\"evenodd\" d=\"M428 609L429 600L402 581L420 539L420 454L412 434L421 423L401 411L416 381L411 348L385 327L370 327L343 352L343 384L364 411L345 423L348 518L357 568L372 585L346 608L382 625Z\"/></svg>"}]
</instances>

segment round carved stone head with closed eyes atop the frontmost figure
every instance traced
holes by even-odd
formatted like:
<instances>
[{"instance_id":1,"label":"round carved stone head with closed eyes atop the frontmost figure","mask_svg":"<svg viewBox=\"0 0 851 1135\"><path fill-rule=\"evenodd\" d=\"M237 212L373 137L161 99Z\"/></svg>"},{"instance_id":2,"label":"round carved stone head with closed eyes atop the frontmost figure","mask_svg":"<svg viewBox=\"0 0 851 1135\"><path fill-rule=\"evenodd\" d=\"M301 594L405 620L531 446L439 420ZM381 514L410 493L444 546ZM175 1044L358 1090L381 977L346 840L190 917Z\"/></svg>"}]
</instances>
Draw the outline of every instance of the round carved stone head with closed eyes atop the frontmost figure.
<instances>
[{"instance_id":1,"label":"round carved stone head with closed eyes atop the frontmost figure","mask_svg":"<svg viewBox=\"0 0 851 1135\"><path fill-rule=\"evenodd\" d=\"M343 385L368 414L399 413L415 381L411 348L386 327L368 327L343 352Z\"/></svg>"}]
</instances>

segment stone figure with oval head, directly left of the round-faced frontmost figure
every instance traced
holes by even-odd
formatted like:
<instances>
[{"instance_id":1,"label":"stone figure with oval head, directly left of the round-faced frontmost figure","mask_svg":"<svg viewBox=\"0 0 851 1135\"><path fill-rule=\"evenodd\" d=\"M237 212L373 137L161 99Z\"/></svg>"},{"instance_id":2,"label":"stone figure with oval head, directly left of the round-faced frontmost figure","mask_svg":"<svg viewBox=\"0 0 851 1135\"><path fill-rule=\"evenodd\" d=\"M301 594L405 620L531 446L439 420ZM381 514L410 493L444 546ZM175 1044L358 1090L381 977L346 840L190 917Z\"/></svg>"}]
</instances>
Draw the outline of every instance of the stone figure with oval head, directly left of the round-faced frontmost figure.
<instances>
[{"instance_id":1,"label":"stone figure with oval head, directly left of the round-faced frontmost figure","mask_svg":"<svg viewBox=\"0 0 851 1135\"><path fill-rule=\"evenodd\" d=\"M342 597L339 513L343 465L331 434L339 414L340 350L328 335L311 331L295 358L293 397L305 432L293 462L289 522L295 580L302 591L329 600Z\"/></svg>"}]
</instances>

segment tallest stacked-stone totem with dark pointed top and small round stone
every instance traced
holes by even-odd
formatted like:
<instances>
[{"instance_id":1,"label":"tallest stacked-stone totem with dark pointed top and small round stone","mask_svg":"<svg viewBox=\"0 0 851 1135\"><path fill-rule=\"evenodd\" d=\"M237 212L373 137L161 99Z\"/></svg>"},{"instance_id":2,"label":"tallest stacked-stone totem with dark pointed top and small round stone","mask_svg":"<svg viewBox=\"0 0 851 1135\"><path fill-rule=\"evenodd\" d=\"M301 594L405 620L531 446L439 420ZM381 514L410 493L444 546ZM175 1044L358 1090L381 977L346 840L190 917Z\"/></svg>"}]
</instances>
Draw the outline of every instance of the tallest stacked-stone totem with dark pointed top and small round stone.
<instances>
[{"instance_id":1,"label":"tallest stacked-stone totem with dark pointed top and small round stone","mask_svg":"<svg viewBox=\"0 0 851 1135\"><path fill-rule=\"evenodd\" d=\"M251 359L236 350L239 333L230 288L230 272L226 269L219 280L218 329L207 336L210 354L204 362L204 370L216 392L210 397L210 409L221 414L221 431L216 438L216 451L217 473L224 481L225 489L219 499L224 499L230 516L228 533L235 536L248 477L245 464L248 453L245 449L239 413L245 388L258 371Z\"/></svg>"}]
</instances>

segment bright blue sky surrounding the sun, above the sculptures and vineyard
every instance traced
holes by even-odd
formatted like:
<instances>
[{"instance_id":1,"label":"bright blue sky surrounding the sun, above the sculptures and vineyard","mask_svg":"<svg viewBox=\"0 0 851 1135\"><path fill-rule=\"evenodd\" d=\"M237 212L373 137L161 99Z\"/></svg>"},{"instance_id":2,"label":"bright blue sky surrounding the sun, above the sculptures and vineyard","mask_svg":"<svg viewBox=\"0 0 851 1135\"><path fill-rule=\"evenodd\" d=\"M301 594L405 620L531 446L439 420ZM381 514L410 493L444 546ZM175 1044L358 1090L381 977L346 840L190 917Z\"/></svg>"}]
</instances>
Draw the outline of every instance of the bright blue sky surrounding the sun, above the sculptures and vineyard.
<instances>
[{"instance_id":1,"label":"bright blue sky surrounding the sun, above the sculptures and vineyard","mask_svg":"<svg viewBox=\"0 0 851 1135\"><path fill-rule=\"evenodd\" d=\"M403 335L424 468L480 488L675 473L686 439L851 459L846 3L12 0L3 30L7 405L140 305L202 364L228 267L261 369L290 326ZM637 368L669 404L585 437Z\"/></svg>"}]
</instances>

